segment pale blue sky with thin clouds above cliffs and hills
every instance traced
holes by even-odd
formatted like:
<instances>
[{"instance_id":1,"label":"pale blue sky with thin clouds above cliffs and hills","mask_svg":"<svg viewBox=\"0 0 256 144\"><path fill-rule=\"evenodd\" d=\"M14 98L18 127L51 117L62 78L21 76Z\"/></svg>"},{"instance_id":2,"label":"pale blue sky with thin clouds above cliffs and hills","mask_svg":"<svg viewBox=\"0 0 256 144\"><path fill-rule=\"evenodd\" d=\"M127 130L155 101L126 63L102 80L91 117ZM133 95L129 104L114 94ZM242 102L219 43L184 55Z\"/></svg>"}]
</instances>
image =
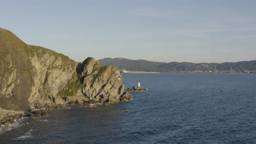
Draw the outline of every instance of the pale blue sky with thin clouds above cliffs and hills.
<instances>
[{"instance_id":1,"label":"pale blue sky with thin clouds above cliffs and hills","mask_svg":"<svg viewBox=\"0 0 256 144\"><path fill-rule=\"evenodd\" d=\"M27 44L157 62L256 59L256 1L0 1L0 26Z\"/></svg>"}]
</instances>

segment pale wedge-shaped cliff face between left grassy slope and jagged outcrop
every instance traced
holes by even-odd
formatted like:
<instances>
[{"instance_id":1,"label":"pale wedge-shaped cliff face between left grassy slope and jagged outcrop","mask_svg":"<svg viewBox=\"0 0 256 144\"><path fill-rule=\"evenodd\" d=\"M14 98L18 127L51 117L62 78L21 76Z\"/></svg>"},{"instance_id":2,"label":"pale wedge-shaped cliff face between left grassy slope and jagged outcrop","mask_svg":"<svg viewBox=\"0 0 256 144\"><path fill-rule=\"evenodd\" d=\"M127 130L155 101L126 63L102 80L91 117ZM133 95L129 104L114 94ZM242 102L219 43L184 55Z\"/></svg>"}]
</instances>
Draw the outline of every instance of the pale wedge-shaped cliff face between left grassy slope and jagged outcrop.
<instances>
[{"instance_id":1,"label":"pale wedge-shaped cliff face between left grassy slope and jagged outcrop","mask_svg":"<svg viewBox=\"0 0 256 144\"><path fill-rule=\"evenodd\" d=\"M78 63L67 56L39 46L26 47L32 65L30 106L45 103L48 97L55 97L71 79Z\"/></svg>"}]
</instances>

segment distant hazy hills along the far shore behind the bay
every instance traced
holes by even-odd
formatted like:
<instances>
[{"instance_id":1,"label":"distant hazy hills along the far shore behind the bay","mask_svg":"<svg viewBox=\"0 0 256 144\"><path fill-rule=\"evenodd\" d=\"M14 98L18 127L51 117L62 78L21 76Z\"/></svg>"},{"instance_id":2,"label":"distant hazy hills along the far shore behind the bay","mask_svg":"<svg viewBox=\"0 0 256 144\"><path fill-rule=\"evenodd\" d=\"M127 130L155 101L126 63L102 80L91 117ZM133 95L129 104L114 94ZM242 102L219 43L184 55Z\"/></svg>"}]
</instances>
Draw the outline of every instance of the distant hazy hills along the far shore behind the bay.
<instances>
[{"instance_id":1,"label":"distant hazy hills along the far shore behind the bay","mask_svg":"<svg viewBox=\"0 0 256 144\"><path fill-rule=\"evenodd\" d=\"M124 68L132 71L157 71L157 72L173 72L173 71L214 71L215 66L218 71L229 71L231 66L235 71L256 69L255 61L243 61L235 63L189 63L189 62L152 62L146 60L131 60L127 58L103 58L98 60L102 66L113 65L119 69Z\"/></svg>"}]
</instances>

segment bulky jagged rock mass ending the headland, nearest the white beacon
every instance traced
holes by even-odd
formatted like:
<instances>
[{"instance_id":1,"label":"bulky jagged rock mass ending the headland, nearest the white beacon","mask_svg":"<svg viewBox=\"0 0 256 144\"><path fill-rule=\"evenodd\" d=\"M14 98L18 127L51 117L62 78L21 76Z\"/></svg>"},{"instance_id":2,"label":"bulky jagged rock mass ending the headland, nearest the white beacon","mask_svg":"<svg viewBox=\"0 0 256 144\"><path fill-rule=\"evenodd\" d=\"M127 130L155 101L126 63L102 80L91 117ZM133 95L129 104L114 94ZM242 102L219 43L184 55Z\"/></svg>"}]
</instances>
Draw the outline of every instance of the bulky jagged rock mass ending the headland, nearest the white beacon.
<instances>
[{"instance_id":1,"label":"bulky jagged rock mass ending the headland, nearest the white beacon","mask_svg":"<svg viewBox=\"0 0 256 144\"><path fill-rule=\"evenodd\" d=\"M80 66L83 77L82 93L92 101L101 103L118 103L124 93L122 77L117 68L110 65L101 67L94 58L86 59Z\"/></svg>"}]
</instances>

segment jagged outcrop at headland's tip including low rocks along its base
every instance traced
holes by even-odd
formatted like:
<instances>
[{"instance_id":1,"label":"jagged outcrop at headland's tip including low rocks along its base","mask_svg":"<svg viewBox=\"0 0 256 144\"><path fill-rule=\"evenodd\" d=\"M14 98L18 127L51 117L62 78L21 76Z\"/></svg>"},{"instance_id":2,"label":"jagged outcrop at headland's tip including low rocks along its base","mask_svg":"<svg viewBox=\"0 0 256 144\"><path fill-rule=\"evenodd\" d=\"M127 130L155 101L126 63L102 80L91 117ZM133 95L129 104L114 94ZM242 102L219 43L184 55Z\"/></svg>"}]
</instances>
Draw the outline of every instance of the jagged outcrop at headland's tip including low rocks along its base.
<instances>
[{"instance_id":1,"label":"jagged outcrop at headland's tip including low rocks along its base","mask_svg":"<svg viewBox=\"0 0 256 144\"><path fill-rule=\"evenodd\" d=\"M77 68L77 77L60 92L70 95L67 100L93 101L97 103L118 103L130 100L130 95L124 92L122 77L117 68L110 65L101 67L94 58L87 58ZM76 97L69 97L72 94Z\"/></svg>"}]
</instances>

